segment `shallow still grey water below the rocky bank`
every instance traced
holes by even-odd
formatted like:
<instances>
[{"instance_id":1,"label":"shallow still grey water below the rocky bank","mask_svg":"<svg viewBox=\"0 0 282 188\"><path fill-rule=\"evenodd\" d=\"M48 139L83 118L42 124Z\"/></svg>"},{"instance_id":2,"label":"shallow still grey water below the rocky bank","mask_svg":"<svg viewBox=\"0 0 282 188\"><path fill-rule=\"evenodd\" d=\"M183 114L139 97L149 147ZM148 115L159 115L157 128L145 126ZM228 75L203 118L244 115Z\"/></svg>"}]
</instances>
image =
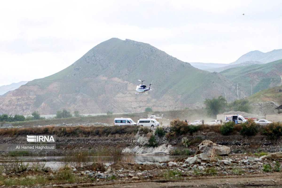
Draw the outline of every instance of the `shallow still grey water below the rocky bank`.
<instances>
[{"instance_id":1,"label":"shallow still grey water below the rocky bank","mask_svg":"<svg viewBox=\"0 0 282 188\"><path fill-rule=\"evenodd\" d=\"M168 155L161 155L161 156L145 156L145 155L135 155L132 156L135 162L165 162L165 161L172 161L178 158L184 158L185 156L168 156ZM45 167L50 167L51 169L58 169L65 165L66 163L63 162L63 156L27 156L27 157L0 157L0 161L23 161L24 163L29 163L32 165L33 163L42 162L45 163ZM104 163L110 163L111 159L109 157L102 157Z\"/></svg>"}]
</instances>

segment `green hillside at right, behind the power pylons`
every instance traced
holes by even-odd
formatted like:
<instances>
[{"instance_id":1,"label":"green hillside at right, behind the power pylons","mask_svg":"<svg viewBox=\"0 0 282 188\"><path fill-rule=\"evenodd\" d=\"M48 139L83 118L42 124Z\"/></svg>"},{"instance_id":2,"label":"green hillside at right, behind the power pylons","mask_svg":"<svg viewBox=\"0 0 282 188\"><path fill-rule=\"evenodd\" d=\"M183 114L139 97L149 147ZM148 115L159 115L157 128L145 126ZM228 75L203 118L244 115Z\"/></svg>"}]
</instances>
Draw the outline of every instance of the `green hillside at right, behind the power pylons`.
<instances>
[{"instance_id":1,"label":"green hillside at right, behind the power pylons","mask_svg":"<svg viewBox=\"0 0 282 188\"><path fill-rule=\"evenodd\" d=\"M271 88L280 84L282 75L282 60L277 60L262 65L249 65L235 67L220 72L233 83L239 83L239 87L248 95Z\"/></svg>"}]
</instances>

